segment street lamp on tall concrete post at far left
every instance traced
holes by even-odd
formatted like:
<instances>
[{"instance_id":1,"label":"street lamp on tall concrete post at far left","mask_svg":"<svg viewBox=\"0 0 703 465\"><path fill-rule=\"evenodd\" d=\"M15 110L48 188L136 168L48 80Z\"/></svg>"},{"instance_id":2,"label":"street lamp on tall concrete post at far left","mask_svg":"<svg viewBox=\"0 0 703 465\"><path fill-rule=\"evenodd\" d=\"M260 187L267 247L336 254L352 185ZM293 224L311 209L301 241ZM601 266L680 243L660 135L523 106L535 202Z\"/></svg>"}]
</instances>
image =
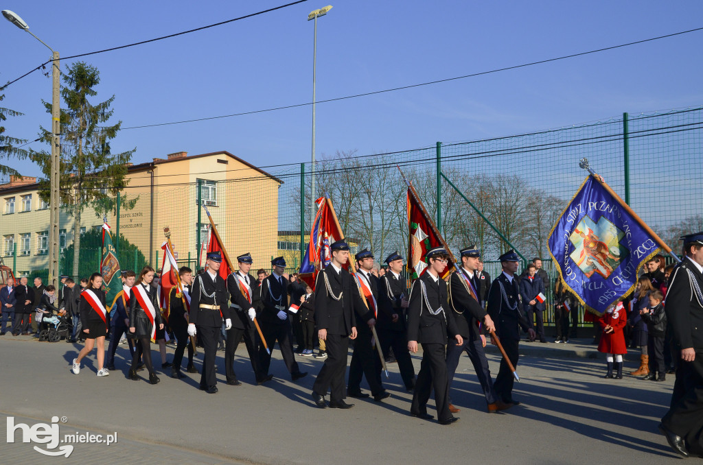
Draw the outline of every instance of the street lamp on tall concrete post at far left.
<instances>
[{"instance_id":1,"label":"street lamp on tall concrete post at far left","mask_svg":"<svg viewBox=\"0 0 703 465\"><path fill-rule=\"evenodd\" d=\"M3 10L3 16L13 25L19 27L21 30L25 30L32 34L30 27L27 23L20 18L17 13L13 13L10 10ZM59 108L59 89L60 89L60 75L61 70L58 63L58 52L54 51L53 48L46 45L43 40L32 34L34 39L40 41L46 48L51 50L53 53L52 66L51 66L51 78L52 78L52 92L51 92L51 177L50 177L50 196L49 196L49 282L58 288L58 189L59 189L59 179L60 179L60 159L61 159L61 145L59 140L59 134L61 131L60 127L60 108Z\"/></svg>"}]
</instances>

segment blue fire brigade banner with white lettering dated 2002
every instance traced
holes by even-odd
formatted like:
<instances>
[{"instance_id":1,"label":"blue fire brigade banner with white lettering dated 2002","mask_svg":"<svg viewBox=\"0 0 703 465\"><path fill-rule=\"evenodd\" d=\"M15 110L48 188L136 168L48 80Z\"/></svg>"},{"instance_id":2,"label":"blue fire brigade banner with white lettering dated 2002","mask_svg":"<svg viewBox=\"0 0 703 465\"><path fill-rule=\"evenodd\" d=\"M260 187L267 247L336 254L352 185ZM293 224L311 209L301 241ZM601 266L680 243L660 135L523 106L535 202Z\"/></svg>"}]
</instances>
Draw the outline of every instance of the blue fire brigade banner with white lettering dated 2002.
<instances>
[{"instance_id":1,"label":"blue fire brigade banner with white lettering dated 2002","mask_svg":"<svg viewBox=\"0 0 703 465\"><path fill-rule=\"evenodd\" d=\"M560 279L596 315L635 289L660 241L604 184L588 176L548 238Z\"/></svg>"}]
</instances>

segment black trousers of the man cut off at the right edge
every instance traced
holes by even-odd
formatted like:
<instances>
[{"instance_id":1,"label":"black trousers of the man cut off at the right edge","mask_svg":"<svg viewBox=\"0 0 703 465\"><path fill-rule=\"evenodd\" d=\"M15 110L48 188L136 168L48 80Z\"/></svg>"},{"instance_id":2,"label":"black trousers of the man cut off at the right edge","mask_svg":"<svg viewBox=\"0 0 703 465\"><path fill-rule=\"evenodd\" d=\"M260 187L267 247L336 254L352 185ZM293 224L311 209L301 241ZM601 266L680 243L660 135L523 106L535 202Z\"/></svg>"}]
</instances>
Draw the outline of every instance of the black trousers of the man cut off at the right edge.
<instances>
[{"instance_id":1,"label":"black trousers of the man cut off at the right edge","mask_svg":"<svg viewBox=\"0 0 703 465\"><path fill-rule=\"evenodd\" d=\"M671 408L662 424L681 436L688 452L703 455L703 353L692 362L679 360L673 384Z\"/></svg>"}]
</instances>

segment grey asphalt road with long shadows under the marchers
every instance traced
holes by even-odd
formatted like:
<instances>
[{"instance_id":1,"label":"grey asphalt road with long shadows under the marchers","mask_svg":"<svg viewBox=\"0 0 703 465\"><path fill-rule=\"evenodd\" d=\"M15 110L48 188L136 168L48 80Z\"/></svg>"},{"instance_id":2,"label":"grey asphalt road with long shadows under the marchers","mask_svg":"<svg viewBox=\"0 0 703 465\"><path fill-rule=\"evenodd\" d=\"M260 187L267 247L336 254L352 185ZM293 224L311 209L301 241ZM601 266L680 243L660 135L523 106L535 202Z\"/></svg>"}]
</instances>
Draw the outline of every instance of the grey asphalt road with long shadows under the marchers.
<instances>
[{"instance_id":1,"label":"grey asphalt road with long shadows under the marchers","mask_svg":"<svg viewBox=\"0 0 703 465\"><path fill-rule=\"evenodd\" d=\"M521 346L530 353L533 345ZM385 381L391 398L381 403L348 399L356 404L352 410L319 410L310 393L322 362L313 358L298 357L309 375L292 383L276 349L271 364L276 377L256 386L247 358L238 356L236 372L243 385L228 386L224 352L219 352L218 379L223 382L219 393L210 395L198 390L199 374L176 380L163 373L155 386L146 377L126 379L126 346L120 346L115 362L122 371L98 378L93 352L81 373L72 374L70 362L80 347L63 341L40 343L28 336L0 338L0 412L30 426L32 421L66 417L60 424L62 435L119 433L110 446L75 445L70 459L86 464L661 465L680 460L657 432L673 375L662 383L627 375L620 381L606 380L602 360L545 357L535 351L538 356L522 356L522 382L516 384L514 397L523 404L488 414L473 368L463 357L452 391L461 408L460 421L440 426L408 415L411 393L404 390L395 364L389 366L390 379ZM169 346L169 359L171 354ZM238 354L246 355L243 345ZM159 360L157 351L153 358ZM420 357L413 361L419 369ZM489 355L494 376L498 361L497 355ZM636 363L627 365L636 368ZM436 415L432 399L429 407ZM5 421L0 436L6 437ZM17 441L1 448L13 464L66 460L44 457L31 444Z\"/></svg>"}]
</instances>

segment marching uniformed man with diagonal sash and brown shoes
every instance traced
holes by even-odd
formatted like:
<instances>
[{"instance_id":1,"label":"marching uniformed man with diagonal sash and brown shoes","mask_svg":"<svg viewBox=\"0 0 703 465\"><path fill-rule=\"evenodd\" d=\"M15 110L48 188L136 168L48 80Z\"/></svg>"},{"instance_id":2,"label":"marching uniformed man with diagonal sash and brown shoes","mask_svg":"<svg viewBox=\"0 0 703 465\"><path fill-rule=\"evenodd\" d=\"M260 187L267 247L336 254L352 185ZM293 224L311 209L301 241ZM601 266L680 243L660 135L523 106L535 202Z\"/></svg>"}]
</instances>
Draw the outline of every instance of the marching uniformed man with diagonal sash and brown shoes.
<instances>
[{"instance_id":1,"label":"marching uniformed man with diagonal sash and brown shoes","mask_svg":"<svg viewBox=\"0 0 703 465\"><path fill-rule=\"evenodd\" d=\"M486 339L481 334L479 324L483 325L486 331L495 331L496 327L491 316L480 305L481 294L479 294L479 282L476 276L479 258L481 253L475 245L470 245L459 251L461 268L451 274L449 279L449 301L454 312L454 320L459 329L459 334L464 338L463 346L449 344L446 348L446 367L449 371L449 387L454 379L456 367L459 365L459 358L462 351L466 351L469 356L476 376L479 379L481 388L486 396L489 413L505 410L509 405L498 399L491 379L491 370L488 366L488 359L484 352ZM450 399L451 402L451 399ZM449 405L452 413L459 411L453 405Z\"/></svg>"}]
</instances>

